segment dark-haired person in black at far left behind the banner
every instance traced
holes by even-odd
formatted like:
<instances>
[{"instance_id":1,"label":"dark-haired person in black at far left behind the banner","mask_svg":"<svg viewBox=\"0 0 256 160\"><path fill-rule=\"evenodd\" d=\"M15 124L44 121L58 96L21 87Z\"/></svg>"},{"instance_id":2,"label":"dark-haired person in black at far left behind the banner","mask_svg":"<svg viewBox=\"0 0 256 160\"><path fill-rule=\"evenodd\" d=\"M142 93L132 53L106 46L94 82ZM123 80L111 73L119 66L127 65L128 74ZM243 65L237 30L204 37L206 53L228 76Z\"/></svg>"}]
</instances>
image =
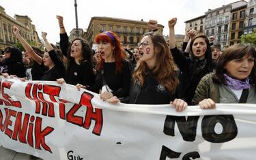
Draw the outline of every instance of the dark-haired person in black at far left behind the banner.
<instances>
[{"instance_id":1,"label":"dark-haired person in black at far left behind the banner","mask_svg":"<svg viewBox=\"0 0 256 160\"><path fill-rule=\"evenodd\" d=\"M4 64L7 68L5 68L3 73L8 73L9 75L16 75L20 78L24 78L26 76L25 67L23 65L23 55L18 48L5 48Z\"/></svg>"}]
</instances>

